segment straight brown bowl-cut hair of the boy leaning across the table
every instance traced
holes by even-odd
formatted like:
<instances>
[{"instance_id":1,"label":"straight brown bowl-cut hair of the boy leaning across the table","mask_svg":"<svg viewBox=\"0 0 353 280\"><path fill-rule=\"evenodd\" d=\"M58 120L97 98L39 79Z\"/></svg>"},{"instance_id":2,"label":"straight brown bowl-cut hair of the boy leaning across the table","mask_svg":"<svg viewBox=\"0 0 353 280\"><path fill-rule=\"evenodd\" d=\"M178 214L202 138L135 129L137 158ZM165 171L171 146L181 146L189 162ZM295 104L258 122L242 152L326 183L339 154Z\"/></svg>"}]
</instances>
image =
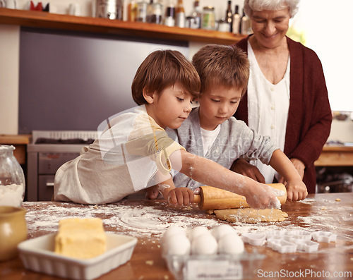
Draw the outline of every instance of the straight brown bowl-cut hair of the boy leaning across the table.
<instances>
[{"instance_id":1,"label":"straight brown bowl-cut hair of the boy leaning across the table","mask_svg":"<svg viewBox=\"0 0 353 280\"><path fill-rule=\"evenodd\" d=\"M133 100L147 104L143 89L160 94L166 87L179 83L184 93L193 97L200 95L201 81L196 69L180 51L153 51L141 63L131 85Z\"/></svg>"}]
</instances>

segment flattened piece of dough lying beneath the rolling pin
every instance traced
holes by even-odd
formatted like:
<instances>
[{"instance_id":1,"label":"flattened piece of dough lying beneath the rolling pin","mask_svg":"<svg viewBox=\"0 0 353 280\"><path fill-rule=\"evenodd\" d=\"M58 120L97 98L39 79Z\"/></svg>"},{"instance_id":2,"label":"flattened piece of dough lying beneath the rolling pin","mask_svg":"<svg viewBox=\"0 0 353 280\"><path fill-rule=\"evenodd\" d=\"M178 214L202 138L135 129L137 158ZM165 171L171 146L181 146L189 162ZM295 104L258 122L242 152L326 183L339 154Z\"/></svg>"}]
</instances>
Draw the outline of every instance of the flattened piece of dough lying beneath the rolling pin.
<instances>
[{"instance_id":1,"label":"flattened piece of dough lying beneath the rolling pin","mask_svg":"<svg viewBox=\"0 0 353 280\"><path fill-rule=\"evenodd\" d=\"M208 214L215 213L216 217L223 221L240 221L247 224L256 224L259 221L284 221L288 217L286 212L280 209L218 209L208 210Z\"/></svg>"}]
</instances>

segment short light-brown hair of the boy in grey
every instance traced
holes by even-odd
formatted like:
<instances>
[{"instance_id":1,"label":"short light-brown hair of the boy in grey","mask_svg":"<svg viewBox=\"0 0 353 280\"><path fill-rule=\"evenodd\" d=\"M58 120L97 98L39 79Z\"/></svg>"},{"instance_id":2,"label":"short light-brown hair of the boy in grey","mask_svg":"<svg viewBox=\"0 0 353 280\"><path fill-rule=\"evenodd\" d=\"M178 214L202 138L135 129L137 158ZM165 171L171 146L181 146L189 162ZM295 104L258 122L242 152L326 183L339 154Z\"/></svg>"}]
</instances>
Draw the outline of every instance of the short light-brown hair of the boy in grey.
<instances>
[{"instance_id":1,"label":"short light-brown hair of the boy in grey","mask_svg":"<svg viewBox=\"0 0 353 280\"><path fill-rule=\"evenodd\" d=\"M243 88L249 80L249 59L235 46L208 44L193 56L193 66L201 78L201 94L211 85Z\"/></svg>"}]
</instances>

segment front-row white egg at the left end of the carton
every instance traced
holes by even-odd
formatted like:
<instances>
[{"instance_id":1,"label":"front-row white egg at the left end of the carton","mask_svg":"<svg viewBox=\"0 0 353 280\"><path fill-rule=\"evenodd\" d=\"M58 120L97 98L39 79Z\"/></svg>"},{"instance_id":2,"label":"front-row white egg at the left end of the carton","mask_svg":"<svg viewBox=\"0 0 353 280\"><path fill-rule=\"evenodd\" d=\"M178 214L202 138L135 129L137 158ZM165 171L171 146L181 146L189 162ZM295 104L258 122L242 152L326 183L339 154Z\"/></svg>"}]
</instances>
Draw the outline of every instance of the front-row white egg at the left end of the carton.
<instances>
[{"instance_id":1,"label":"front-row white egg at the left end of the carton","mask_svg":"<svg viewBox=\"0 0 353 280\"><path fill-rule=\"evenodd\" d=\"M191 243L186 234L174 234L162 243L163 255L189 255L190 250Z\"/></svg>"}]
</instances>

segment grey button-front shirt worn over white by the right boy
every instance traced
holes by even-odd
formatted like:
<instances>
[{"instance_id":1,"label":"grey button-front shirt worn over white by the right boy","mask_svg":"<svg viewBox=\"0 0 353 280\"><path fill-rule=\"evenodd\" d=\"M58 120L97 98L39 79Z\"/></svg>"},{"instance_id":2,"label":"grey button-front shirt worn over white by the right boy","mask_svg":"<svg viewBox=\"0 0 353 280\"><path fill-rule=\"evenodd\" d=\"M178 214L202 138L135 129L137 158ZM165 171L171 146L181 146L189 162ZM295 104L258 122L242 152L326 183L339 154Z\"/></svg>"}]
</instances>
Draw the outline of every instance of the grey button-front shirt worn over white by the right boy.
<instances>
[{"instance_id":1,"label":"grey button-front shirt worn over white by the right boy","mask_svg":"<svg viewBox=\"0 0 353 280\"><path fill-rule=\"evenodd\" d=\"M268 136L258 135L251 130L244 121L238 121L233 116L220 125L220 133L215 142L205 154L206 159L213 160L218 164L230 169L234 160L240 157L251 160L260 159L268 164L275 150L278 149L275 142ZM177 130L167 128L170 138L179 142L187 152L203 157L203 142L201 136L200 118L198 108L191 111L189 117ZM195 190L201 183L193 181L188 176L177 173L174 178L177 188L187 187Z\"/></svg>"}]
</instances>

